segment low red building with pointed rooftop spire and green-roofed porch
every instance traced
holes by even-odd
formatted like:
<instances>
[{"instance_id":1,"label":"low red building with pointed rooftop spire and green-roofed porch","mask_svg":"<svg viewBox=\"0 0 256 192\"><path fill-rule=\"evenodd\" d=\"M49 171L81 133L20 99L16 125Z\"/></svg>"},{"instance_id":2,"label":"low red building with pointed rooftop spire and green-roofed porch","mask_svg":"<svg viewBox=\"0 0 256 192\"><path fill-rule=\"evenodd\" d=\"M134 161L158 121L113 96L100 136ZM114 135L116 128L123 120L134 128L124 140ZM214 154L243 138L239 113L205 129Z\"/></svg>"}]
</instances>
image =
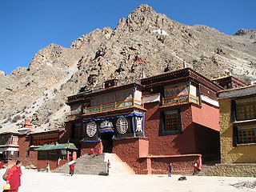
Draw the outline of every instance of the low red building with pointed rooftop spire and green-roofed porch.
<instances>
[{"instance_id":1,"label":"low red building with pointed rooftop spire and green-roofed porch","mask_svg":"<svg viewBox=\"0 0 256 192\"><path fill-rule=\"evenodd\" d=\"M18 132L17 158L22 161L23 166L45 169L49 163L50 169L54 170L70 161L68 157L71 155L76 158L77 148L62 137L64 130L34 132L30 118L26 118L24 126Z\"/></svg>"}]
</instances>

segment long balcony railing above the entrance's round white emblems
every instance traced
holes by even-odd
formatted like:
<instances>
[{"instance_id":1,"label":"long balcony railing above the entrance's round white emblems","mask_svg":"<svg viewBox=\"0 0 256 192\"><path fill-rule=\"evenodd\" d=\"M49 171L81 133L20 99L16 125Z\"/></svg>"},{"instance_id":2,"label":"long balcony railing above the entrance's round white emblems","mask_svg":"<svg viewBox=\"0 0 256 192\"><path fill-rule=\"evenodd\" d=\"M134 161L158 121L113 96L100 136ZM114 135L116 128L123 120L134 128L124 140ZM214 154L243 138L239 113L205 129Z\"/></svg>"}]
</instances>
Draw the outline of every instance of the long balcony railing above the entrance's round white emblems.
<instances>
[{"instance_id":1,"label":"long balcony railing above the entrance's round white emblems","mask_svg":"<svg viewBox=\"0 0 256 192\"><path fill-rule=\"evenodd\" d=\"M135 99L123 101L123 102L114 102L114 103L101 105L101 106L86 107L84 108L84 114L93 114L93 113L98 113L98 112L108 111L108 110L118 110L118 109L130 107L130 106L137 106L142 108L143 104L142 104L142 101L138 101Z\"/></svg>"}]
</instances>

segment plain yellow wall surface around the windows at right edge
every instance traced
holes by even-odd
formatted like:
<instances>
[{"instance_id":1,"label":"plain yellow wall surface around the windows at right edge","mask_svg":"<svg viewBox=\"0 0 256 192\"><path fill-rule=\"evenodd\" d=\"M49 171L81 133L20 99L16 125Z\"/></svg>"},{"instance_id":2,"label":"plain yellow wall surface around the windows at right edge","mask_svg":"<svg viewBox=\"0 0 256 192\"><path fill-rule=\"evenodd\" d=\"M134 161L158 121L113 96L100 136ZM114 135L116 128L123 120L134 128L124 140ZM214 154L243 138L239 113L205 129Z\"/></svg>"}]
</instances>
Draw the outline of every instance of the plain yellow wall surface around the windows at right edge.
<instances>
[{"instance_id":1,"label":"plain yellow wall surface around the windows at right edge","mask_svg":"<svg viewBox=\"0 0 256 192\"><path fill-rule=\"evenodd\" d=\"M256 144L233 146L233 126L230 121L231 99L221 99L218 102L220 106L221 162L256 162Z\"/></svg>"}]
</instances>

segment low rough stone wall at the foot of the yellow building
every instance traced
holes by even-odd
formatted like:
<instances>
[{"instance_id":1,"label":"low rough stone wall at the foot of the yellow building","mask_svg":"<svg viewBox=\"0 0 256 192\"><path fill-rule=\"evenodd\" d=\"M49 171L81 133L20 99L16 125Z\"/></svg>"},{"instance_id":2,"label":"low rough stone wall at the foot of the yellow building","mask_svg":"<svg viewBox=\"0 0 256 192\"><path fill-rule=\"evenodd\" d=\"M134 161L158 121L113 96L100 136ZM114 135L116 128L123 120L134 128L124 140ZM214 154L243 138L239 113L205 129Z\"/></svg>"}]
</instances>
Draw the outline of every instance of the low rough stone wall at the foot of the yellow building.
<instances>
[{"instance_id":1,"label":"low rough stone wall at the foot of the yellow building","mask_svg":"<svg viewBox=\"0 0 256 192\"><path fill-rule=\"evenodd\" d=\"M204 167L202 167L204 168ZM199 175L224 177L256 177L256 163L230 163L210 166Z\"/></svg>"}]
</instances>

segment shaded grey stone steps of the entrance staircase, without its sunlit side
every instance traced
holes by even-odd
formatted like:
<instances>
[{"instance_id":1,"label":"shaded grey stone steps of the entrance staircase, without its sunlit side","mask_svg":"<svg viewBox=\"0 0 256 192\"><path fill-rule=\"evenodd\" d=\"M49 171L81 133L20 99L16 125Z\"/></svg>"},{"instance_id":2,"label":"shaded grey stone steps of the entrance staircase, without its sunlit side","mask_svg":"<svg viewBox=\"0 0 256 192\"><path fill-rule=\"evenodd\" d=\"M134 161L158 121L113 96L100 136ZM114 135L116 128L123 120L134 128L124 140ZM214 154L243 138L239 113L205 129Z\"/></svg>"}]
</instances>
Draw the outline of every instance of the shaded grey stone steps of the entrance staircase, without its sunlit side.
<instances>
[{"instance_id":1,"label":"shaded grey stone steps of the entrance staircase, without its sunlit side","mask_svg":"<svg viewBox=\"0 0 256 192\"><path fill-rule=\"evenodd\" d=\"M104 162L105 154L98 156L85 154L76 159L74 174L102 174L106 173L106 162ZM68 163L53 170L54 173L70 173Z\"/></svg>"}]
</instances>

